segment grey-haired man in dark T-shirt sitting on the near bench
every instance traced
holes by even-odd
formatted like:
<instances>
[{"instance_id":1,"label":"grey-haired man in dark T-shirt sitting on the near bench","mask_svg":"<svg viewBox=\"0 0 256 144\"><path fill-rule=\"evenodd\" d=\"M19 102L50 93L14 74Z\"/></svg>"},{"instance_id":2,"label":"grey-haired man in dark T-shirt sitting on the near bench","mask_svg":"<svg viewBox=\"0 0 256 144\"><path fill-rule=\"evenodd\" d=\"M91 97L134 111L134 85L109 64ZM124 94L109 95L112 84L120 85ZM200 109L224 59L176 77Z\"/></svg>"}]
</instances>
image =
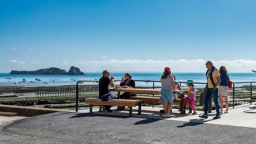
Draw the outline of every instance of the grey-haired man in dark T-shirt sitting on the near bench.
<instances>
[{"instance_id":1,"label":"grey-haired man in dark T-shirt sitting on the near bench","mask_svg":"<svg viewBox=\"0 0 256 144\"><path fill-rule=\"evenodd\" d=\"M109 71L107 69L102 72L102 75L103 76L99 80L99 99L101 99L102 101L107 101L107 100L111 100L111 99L119 99L119 97L117 95L108 91L109 85L115 86L114 76L111 76L109 79ZM112 110L110 108L111 108L111 106L107 106L107 105L105 106L105 109L108 112L112 112Z\"/></svg>"}]
</instances>

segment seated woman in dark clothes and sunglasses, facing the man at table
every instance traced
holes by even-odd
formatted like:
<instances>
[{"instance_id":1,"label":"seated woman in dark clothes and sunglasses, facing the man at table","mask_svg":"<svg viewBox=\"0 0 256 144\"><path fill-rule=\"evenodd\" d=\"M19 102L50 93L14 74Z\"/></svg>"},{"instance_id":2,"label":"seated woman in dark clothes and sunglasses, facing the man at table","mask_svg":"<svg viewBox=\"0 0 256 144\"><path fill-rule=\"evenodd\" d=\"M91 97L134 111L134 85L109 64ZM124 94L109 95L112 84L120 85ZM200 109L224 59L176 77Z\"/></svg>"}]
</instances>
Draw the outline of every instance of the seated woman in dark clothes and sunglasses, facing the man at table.
<instances>
[{"instance_id":1,"label":"seated woman in dark clothes and sunglasses, facing the man at table","mask_svg":"<svg viewBox=\"0 0 256 144\"><path fill-rule=\"evenodd\" d=\"M127 88L135 88L135 81L132 80L132 76L130 73L124 74L124 77L122 77L122 81L120 82L120 86L127 86ZM135 92L124 92L120 95L120 99L128 99L130 97L136 97ZM125 110L125 107L117 107L116 110Z\"/></svg>"}]
</instances>

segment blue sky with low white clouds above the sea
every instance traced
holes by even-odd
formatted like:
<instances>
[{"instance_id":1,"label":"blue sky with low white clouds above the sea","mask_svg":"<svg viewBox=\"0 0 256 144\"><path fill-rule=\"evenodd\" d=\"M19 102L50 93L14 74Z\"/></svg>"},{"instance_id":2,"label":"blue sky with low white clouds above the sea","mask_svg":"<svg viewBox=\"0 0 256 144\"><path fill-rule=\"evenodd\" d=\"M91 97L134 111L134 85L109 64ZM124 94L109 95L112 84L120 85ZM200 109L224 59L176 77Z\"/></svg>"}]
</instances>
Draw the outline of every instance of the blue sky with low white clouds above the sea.
<instances>
[{"instance_id":1,"label":"blue sky with low white clouds above the sea","mask_svg":"<svg viewBox=\"0 0 256 144\"><path fill-rule=\"evenodd\" d=\"M254 0L0 0L0 72L256 69Z\"/></svg>"}]
</instances>

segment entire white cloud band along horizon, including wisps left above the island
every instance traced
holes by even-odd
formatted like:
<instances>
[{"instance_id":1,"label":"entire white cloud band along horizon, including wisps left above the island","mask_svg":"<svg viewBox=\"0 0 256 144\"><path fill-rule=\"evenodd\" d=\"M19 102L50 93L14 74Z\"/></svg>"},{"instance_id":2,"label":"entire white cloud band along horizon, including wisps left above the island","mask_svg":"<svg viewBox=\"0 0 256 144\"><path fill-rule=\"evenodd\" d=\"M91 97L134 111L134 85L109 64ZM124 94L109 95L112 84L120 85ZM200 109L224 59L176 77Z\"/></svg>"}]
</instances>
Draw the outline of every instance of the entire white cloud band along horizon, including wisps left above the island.
<instances>
[{"instance_id":1,"label":"entire white cloud band along horizon, including wisps left above the island","mask_svg":"<svg viewBox=\"0 0 256 144\"><path fill-rule=\"evenodd\" d=\"M207 60L197 59L197 60L100 60L100 61L37 61L30 62L29 65L21 64L22 62L17 60L11 60L10 63L19 63L20 65L13 65L14 68L11 69L24 69L24 70L35 70L41 68L57 67L61 69L68 70L71 66L76 66L80 68L83 72L100 72L104 69L110 71L123 71L123 72L133 72L133 71L154 71L163 72L165 67L170 67L172 72L201 72L206 71L205 63ZM234 72L248 72L251 73L252 69L256 70L256 61L253 60L212 60L216 68L220 66L225 66L230 73ZM8 71L1 69L2 71Z\"/></svg>"}]
</instances>

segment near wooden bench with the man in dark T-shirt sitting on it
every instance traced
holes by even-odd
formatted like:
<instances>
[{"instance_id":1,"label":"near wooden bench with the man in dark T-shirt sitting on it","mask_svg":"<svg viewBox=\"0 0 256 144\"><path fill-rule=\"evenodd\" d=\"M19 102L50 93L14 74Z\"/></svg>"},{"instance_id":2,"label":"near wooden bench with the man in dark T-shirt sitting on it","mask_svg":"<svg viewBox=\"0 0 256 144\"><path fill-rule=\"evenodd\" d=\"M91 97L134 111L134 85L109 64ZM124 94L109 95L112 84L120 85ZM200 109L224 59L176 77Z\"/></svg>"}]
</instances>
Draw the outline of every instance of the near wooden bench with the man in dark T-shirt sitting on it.
<instances>
[{"instance_id":1,"label":"near wooden bench with the man in dark T-shirt sitting on it","mask_svg":"<svg viewBox=\"0 0 256 144\"><path fill-rule=\"evenodd\" d=\"M92 113L92 105L100 105L100 112L105 111L105 105L108 106L123 106L129 107L129 116L132 116L132 107L138 106L138 115L141 115L141 103L145 100L128 100L128 99L114 99L102 101L98 98L86 98L85 103L90 104L90 113ZM103 106L103 107L102 107Z\"/></svg>"}]
</instances>

